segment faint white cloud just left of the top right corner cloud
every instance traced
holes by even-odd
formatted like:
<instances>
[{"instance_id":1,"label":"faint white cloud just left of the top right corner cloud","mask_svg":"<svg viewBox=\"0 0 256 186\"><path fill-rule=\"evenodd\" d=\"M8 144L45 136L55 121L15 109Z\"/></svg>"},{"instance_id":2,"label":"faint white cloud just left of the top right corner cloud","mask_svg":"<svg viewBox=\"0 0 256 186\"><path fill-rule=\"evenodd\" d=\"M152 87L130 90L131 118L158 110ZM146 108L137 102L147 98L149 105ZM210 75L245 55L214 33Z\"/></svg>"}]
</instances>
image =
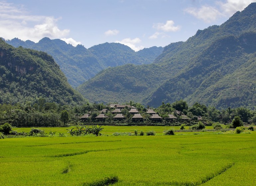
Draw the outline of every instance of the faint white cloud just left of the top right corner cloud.
<instances>
[{"instance_id":1,"label":"faint white cloud just left of the top right corner cloud","mask_svg":"<svg viewBox=\"0 0 256 186\"><path fill-rule=\"evenodd\" d=\"M223 16L216 8L212 6L202 6L200 8L187 8L185 12L193 15L197 19L203 20L205 23L210 23Z\"/></svg>"}]
</instances>

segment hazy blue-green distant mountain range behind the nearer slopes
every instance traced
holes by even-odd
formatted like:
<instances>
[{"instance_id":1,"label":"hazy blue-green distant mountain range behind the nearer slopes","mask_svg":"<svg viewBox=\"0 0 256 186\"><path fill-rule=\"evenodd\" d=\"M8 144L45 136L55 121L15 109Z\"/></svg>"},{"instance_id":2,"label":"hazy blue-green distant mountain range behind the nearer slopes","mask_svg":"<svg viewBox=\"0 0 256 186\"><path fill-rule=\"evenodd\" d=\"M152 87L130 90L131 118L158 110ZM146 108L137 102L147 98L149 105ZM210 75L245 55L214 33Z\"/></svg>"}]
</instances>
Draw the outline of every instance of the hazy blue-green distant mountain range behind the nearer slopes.
<instances>
[{"instance_id":1,"label":"hazy blue-green distant mountain range behind the nearer slopes","mask_svg":"<svg viewBox=\"0 0 256 186\"><path fill-rule=\"evenodd\" d=\"M36 49L52 55L73 87L77 87L109 66L152 63L163 51L163 47L155 46L135 52L119 43L104 43L86 49L82 45L74 47L60 39L49 38L43 38L38 43L18 38L6 42L15 47Z\"/></svg>"}]
</instances>

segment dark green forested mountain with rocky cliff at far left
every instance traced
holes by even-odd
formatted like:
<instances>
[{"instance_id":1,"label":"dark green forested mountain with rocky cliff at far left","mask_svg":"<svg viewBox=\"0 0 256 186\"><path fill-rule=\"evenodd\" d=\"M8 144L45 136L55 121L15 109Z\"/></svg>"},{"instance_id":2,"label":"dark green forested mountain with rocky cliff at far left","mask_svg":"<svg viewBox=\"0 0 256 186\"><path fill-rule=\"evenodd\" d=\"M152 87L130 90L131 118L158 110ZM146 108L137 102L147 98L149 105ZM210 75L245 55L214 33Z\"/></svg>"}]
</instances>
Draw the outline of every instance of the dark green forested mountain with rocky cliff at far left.
<instances>
[{"instance_id":1,"label":"dark green forested mountain with rocky cliff at far left","mask_svg":"<svg viewBox=\"0 0 256 186\"><path fill-rule=\"evenodd\" d=\"M0 104L47 102L80 104L85 100L66 80L52 56L15 48L0 39Z\"/></svg>"}]
</instances>

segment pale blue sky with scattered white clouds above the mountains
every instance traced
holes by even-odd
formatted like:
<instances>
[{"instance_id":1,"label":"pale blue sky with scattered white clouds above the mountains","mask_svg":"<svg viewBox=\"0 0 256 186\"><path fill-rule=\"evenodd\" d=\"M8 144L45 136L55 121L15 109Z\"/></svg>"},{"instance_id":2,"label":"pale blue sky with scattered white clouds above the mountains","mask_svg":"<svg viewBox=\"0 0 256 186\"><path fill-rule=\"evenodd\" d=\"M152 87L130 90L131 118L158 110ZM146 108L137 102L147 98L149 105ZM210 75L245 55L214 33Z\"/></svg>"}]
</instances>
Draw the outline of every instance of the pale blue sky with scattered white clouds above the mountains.
<instances>
[{"instance_id":1,"label":"pale blue sky with scattered white clouds above the mountains","mask_svg":"<svg viewBox=\"0 0 256 186\"><path fill-rule=\"evenodd\" d=\"M256 0L0 0L0 37L73 46L121 43L138 51L187 41Z\"/></svg>"}]
</instances>

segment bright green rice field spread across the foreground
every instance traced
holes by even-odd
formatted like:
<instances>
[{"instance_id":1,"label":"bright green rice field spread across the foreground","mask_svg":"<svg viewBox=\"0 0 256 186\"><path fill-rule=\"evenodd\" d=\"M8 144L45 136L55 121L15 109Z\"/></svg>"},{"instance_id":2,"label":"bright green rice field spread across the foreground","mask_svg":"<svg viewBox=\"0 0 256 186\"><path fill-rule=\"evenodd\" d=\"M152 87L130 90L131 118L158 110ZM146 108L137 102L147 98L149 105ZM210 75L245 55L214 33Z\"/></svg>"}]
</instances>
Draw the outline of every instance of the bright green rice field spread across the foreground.
<instances>
[{"instance_id":1,"label":"bright green rice field spread across the foreground","mask_svg":"<svg viewBox=\"0 0 256 186\"><path fill-rule=\"evenodd\" d=\"M176 133L176 127L103 127L102 136L0 140L0 183L90 185L118 176L113 185L255 185L256 132ZM66 133L66 128L43 128ZM111 136L153 130L156 136ZM177 128L177 130L179 127ZM14 128L29 132L30 128ZM28 131L26 131L28 130ZM49 130L49 131L48 131Z\"/></svg>"}]
</instances>

